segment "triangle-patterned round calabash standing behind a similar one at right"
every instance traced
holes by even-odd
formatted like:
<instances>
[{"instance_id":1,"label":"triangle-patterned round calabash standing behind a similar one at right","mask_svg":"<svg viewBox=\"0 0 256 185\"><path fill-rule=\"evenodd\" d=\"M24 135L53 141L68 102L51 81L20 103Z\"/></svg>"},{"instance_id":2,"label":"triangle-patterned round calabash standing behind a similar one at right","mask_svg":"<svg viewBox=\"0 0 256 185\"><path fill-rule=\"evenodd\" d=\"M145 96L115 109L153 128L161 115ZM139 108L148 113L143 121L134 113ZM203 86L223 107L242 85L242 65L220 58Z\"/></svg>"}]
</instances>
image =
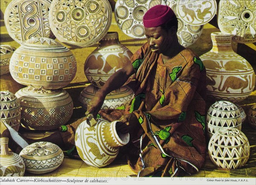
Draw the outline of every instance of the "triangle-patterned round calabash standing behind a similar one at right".
<instances>
[{"instance_id":1,"label":"triangle-patterned round calabash standing behind a similar one at right","mask_svg":"<svg viewBox=\"0 0 256 185\"><path fill-rule=\"evenodd\" d=\"M229 101L217 101L209 108L206 118L209 138L219 129L234 127L241 130L241 113Z\"/></svg>"}]
</instances>

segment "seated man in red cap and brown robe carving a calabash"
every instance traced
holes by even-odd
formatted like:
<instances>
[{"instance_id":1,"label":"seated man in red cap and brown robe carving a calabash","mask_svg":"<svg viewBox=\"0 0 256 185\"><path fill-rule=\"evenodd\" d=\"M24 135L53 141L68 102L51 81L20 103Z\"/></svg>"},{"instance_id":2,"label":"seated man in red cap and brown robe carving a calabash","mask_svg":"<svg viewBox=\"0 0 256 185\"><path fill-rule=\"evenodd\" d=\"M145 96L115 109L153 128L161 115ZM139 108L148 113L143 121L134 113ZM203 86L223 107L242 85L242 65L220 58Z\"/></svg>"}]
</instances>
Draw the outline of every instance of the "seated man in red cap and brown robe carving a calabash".
<instances>
[{"instance_id":1,"label":"seated man in red cap and brown robe carving a calabash","mask_svg":"<svg viewBox=\"0 0 256 185\"><path fill-rule=\"evenodd\" d=\"M143 17L145 43L131 64L112 75L88 105L86 115L120 120L118 132L130 133L123 147L138 176L183 176L198 171L205 157L206 70L177 39L177 17L169 6L154 6ZM135 74L134 99L125 110L100 110L108 93ZM85 119L85 118L84 118ZM76 127L62 138L74 144Z\"/></svg>"}]
</instances>

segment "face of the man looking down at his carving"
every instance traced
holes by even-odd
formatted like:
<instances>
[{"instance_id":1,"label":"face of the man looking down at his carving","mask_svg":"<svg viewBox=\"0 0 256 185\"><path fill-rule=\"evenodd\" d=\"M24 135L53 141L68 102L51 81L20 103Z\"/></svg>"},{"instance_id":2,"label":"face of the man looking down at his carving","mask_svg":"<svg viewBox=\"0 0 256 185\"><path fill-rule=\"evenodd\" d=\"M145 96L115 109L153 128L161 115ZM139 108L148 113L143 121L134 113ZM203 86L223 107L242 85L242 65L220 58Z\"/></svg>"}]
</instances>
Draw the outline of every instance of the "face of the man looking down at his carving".
<instances>
[{"instance_id":1,"label":"face of the man looking down at his carving","mask_svg":"<svg viewBox=\"0 0 256 185\"><path fill-rule=\"evenodd\" d=\"M160 26L145 28L145 36L152 52L164 54L172 44L172 34Z\"/></svg>"}]
</instances>

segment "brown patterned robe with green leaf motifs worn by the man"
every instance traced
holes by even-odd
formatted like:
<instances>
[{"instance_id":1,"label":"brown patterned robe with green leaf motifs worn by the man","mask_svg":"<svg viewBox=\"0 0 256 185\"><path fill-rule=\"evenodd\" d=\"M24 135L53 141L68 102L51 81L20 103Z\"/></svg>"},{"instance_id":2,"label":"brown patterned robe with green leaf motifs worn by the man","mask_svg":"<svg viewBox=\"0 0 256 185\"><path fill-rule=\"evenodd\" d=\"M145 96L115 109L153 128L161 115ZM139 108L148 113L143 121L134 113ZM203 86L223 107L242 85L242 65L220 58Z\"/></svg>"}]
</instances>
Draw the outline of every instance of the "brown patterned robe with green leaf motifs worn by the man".
<instances>
[{"instance_id":1,"label":"brown patterned robe with green leaf motifs worn by the man","mask_svg":"<svg viewBox=\"0 0 256 185\"><path fill-rule=\"evenodd\" d=\"M131 58L134 99L126 110L101 110L109 121L134 113L140 125L122 148L138 176L183 176L204 165L206 70L191 49L165 64L145 43ZM81 120L68 127L75 132ZM73 133L72 133L73 134ZM70 141L70 134L62 133ZM65 141L65 139L63 139ZM73 141L71 141L73 142Z\"/></svg>"}]
</instances>

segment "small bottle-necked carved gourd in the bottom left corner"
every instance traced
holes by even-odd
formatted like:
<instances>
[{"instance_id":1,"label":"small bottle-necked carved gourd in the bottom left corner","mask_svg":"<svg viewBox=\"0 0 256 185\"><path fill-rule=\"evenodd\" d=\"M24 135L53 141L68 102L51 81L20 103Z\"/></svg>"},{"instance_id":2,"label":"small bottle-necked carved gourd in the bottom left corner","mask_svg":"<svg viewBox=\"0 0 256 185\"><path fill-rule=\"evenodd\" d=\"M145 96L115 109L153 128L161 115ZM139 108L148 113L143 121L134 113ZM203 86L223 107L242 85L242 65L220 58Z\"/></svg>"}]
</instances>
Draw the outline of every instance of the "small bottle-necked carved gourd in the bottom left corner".
<instances>
[{"instance_id":1,"label":"small bottle-necked carved gourd in the bottom left corner","mask_svg":"<svg viewBox=\"0 0 256 185\"><path fill-rule=\"evenodd\" d=\"M23 159L16 153L9 152L6 137L0 138L0 176L23 176L25 164Z\"/></svg>"}]
</instances>

